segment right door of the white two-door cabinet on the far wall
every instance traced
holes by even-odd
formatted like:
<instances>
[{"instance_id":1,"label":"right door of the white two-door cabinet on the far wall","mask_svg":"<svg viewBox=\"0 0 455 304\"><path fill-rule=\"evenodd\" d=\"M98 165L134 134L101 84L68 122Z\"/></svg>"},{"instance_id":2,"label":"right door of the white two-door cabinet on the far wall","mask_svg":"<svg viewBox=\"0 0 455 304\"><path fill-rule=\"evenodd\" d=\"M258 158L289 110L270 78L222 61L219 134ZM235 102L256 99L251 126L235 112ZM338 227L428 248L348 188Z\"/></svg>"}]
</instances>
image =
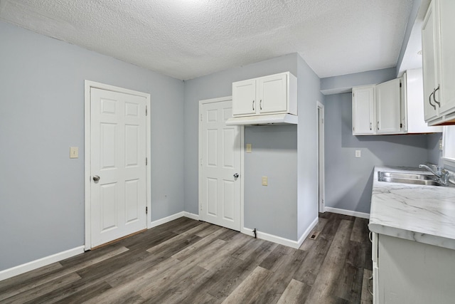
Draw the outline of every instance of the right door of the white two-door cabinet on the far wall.
<instances>
[{"instance_id":1,"label":"right door of the white two-door cabinet on the far wall","mask_svg":"<svg viewBox=\"0 0 455 304\"><path fill-rule=\"evenodd\" d=\"M376 133L401 132L400 78L376 85Z\"/></svg>"}]
</instances>

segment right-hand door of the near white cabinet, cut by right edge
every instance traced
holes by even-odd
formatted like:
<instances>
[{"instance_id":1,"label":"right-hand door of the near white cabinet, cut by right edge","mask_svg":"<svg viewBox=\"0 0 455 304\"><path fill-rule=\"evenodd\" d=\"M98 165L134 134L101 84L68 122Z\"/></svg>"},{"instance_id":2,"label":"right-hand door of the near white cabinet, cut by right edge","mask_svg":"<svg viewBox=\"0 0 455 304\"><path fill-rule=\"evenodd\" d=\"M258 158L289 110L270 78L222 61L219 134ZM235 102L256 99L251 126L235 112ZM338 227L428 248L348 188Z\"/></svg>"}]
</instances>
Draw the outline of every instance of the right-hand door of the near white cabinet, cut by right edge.
<instances>
[{"instance_id":1,"label":"right-hand door of the near white cabinet, cut by right edge","mask_svg":"<svg viewBox=\"0 0 455 304\"><path fill-rule=\"evenodd\" d=\"M435 2L435 1L433 1ZM434 93L434 98L440 103L439 115L455 112L455 1L441 0L435 2L439 32L437 31L437 57L439 88ZM439 106L439 105L438 105Z\"/></svg>"}]
</instances>

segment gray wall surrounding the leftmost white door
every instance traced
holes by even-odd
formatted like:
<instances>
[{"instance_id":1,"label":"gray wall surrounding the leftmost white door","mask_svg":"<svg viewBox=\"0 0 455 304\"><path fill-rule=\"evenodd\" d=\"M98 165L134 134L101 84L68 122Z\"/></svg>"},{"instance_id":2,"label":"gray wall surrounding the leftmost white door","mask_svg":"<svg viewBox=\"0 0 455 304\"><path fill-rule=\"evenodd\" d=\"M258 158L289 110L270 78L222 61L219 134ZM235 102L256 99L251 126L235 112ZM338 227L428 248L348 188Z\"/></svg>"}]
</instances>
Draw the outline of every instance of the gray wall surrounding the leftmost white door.
<instances>
[{"instance_id":1,"label":"gray wall surrounding the leftmost white door","mask_svg":"<svg viewBox=\"0 0 455 304\"><path fill-rule=\"evenodd\" d=\"M151 94L151 218L183 210L182 81L1 21L0 41L0 271L84 244L85 79Z\"/></svg>"}]
</instances>

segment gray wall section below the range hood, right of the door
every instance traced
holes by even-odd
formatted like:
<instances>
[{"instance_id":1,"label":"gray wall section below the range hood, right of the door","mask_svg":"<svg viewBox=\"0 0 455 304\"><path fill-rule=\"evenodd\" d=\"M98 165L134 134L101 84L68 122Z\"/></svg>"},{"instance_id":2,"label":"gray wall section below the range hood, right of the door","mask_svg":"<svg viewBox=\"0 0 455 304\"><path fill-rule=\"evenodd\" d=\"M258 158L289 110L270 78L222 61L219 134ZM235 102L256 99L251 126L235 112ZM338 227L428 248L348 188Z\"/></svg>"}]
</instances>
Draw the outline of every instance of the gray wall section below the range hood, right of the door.
<instances>
[{"instance_id":1,"label":"gray wall section below the range hood, right of the door","mask_svg":"<svg viewBox=\"0 0 455 304\"><path fill-rule=\"evenodd\" d=\"M245 227L296 239L296 125L245 127L247 143L252 152L245 153Z\"/></svg>"}]
</instances>

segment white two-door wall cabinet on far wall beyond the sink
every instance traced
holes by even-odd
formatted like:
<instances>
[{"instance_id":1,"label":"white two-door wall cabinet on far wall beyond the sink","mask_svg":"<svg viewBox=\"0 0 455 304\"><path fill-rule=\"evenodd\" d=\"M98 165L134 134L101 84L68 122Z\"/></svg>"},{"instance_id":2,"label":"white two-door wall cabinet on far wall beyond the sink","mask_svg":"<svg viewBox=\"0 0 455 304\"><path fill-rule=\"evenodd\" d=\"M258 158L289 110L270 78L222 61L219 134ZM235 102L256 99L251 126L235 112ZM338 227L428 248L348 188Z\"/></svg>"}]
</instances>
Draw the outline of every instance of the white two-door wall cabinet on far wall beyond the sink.
<instances>
[{"instance_id":1,"label":"white two-door wall cabinet on far wall beyond the sink","mask_svg":"<svg viewBox=\"0 0 455 304\"><path fill-rule=\"evenodd\" d=\"M353 88L353 135L402 132L401 79Z\"/></svg>"}]
</instances>

